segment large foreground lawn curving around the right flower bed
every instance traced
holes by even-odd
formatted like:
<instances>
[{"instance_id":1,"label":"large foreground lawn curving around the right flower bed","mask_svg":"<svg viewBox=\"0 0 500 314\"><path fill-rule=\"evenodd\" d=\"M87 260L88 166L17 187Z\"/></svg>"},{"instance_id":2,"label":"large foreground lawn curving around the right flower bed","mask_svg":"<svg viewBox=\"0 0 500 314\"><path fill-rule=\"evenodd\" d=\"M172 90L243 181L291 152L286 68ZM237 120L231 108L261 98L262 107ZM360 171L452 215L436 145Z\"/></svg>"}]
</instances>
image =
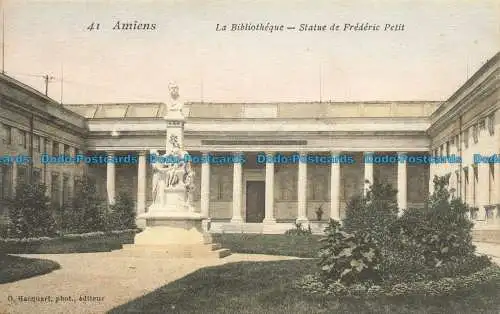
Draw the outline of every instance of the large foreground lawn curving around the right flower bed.
<instances>
[{"instance_id":1,"label":"large foreground lawn curving around the right flower bed","mask_svg":"<svg viewBox=\"0 0 500 314\"><path fill-rule=\"evenodd\" d=\"M498 287L454 297L338 299L306 295L295 281L313 260L240 262L198 270L110 313L499 313Z\"/></svg>"}]
</instances>

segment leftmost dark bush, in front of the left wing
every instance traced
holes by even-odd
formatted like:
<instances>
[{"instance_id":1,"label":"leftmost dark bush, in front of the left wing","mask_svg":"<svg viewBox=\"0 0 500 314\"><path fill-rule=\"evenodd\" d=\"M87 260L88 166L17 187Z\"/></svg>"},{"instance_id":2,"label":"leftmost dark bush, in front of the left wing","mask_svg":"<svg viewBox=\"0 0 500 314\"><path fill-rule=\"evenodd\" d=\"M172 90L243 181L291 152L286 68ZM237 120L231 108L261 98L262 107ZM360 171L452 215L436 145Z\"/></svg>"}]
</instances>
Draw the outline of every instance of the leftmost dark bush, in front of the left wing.
<instances>
[{"instance_id":1,"label":"leftmost dark bush, in front of the left wing","mask_svg":"<svg viewBox=\"0 0 500 314\"><path fill-rule=\"evenodd\" d=\"M9 237L25 238L56 234L56 222L43 184L17 186L9 208Z\"/></svg>"}]
</instances>

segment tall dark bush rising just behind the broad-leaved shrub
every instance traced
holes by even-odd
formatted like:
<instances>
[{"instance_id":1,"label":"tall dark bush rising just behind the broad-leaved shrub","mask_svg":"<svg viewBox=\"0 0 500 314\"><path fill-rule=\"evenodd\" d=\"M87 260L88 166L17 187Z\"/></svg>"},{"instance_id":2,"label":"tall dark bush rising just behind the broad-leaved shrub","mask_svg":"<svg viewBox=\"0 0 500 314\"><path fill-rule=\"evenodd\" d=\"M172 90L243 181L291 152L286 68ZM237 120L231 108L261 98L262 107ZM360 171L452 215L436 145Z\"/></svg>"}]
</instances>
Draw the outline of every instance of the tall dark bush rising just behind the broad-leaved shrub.
<instances>
[{"instance_id":1,"label":"tall dark bush rising just behind the broad-leaved shrub","mask_svg":"<svg viewBox=\"0 0 500 314\"><path fill-rule=\"evenodd\" d=\"M358 195L347 204L343 225L348 232L370 233L378 242L391 238L390 226L398 217L397 190L377 181L370 186L366 197Z\"/></svg>"}]
</instances>

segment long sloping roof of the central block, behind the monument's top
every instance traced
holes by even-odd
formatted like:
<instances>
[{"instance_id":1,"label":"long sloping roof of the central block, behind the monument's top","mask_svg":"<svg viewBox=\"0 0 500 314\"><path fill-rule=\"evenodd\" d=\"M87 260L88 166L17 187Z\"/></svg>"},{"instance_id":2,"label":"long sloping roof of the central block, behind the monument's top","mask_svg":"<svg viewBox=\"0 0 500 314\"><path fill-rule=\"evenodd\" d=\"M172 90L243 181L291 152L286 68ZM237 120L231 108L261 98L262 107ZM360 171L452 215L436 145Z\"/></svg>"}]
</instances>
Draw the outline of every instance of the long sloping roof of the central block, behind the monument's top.
<instances>
[{"instance_id":1,"label":"long sloping roof of the central block, behind the monument's top","mask_svg":"<svg viewBox=\"0 0 500 314\"><path fill-rule=\"evenodd\" d=\"M269 119L336 117L428 117L439 101L269 102L185 104L185 115L196 119ZM87 119L162 118L164 103L64 105Z\"/></svg>"}]
</instances>

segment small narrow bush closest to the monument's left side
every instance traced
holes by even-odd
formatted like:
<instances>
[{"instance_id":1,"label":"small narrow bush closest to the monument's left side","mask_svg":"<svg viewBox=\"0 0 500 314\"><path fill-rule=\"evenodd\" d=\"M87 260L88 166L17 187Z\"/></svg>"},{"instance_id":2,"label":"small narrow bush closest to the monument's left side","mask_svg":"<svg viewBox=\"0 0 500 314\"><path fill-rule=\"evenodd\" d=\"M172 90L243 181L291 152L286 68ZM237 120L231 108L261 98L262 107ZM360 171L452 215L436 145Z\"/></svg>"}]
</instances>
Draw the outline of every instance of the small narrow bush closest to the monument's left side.
<instances>
[{"instance_id":1,"label":"small narrow bush closest to the monument's left side","mask_svg":"<svg viewBox=\"0 0 500 314\"><path fill-rule=\"evenodd\" d=\"M115 204L110 206L108 229L126 230L137 228L134 202L126 193L118 195Z\"/></svg>"}]
</instances>

